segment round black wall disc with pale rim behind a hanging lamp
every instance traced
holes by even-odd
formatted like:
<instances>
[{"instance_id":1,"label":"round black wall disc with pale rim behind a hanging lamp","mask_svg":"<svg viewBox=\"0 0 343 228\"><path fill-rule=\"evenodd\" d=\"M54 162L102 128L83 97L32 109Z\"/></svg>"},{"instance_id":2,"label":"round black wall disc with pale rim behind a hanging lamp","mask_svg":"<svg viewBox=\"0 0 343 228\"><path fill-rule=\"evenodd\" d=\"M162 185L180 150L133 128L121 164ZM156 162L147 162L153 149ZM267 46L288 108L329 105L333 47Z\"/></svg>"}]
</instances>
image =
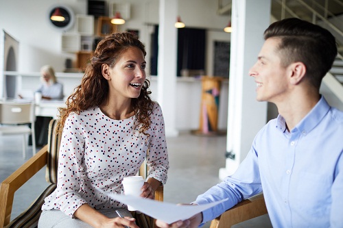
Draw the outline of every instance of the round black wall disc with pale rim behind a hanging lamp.
<instances>
[{"instance_id":1,"label":"round black wall disc with pale rim behind a hanging lamp","mask_svg":"<svg viewBox=\"0 0 343 228\"><path fill-rule=\"evenodd\" d=\"M56 11L59 11L59 14L64 17L64 21L54 21L51 19L51 16L53 16ZM75 14L71 8L67 5L62 4L56 4L52 5L51 8L48 10L48 20L50 21L50 25L54 27L54 29L58 29L60 31L67 31L69 30L74 22L75 22Z\"/></svg>"}]
</instances>

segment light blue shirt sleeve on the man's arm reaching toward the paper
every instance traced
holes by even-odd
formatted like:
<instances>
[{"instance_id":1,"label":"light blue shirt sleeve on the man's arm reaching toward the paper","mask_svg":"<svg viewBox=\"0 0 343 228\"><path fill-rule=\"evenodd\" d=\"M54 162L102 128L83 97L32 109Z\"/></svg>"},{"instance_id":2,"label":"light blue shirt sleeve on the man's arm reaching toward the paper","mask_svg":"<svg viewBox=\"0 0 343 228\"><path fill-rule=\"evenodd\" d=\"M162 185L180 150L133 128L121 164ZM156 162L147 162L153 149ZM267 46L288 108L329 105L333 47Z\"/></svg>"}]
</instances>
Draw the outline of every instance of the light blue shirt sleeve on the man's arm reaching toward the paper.
<instances>
[{"instance_id":1,"label":"light blue shirt sleeve on the man's arm reaching toward the paper","mask_svg":"<svg viewBox=\"0 0 343 228\"><path fill-rule=\"evenodd\" d=\"M224 181L213 186L204 192L204 194L200 194L193 203L201 205L228 198L227 201L202 212L203 225L209 220L217 218L217 216L220 216L240 201L248 199L261 191L257 153L254 147L252 147L245 160L239 165L233 175L226 177Z\"/></svg>"}]
</instances>

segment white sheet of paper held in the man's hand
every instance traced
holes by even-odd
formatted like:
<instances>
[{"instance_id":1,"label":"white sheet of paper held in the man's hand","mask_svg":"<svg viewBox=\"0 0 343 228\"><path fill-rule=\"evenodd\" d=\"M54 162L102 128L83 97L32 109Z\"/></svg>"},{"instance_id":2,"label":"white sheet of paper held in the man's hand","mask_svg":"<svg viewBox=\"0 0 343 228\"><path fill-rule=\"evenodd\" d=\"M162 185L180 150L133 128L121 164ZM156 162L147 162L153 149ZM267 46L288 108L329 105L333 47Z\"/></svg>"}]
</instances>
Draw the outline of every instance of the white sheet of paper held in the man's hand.
<instances>
[{"instance_id":1,"label":"white sheet of paper held in the man's hand","mask_svg":"<svg viewBox=\"0 0 343 228\"><path fill-rule=\"evenodd\" d=\"M185 220L199 212L228 200L223 199L221 201L206 203L203 205L178 205L123 194L110 194L108 196L116 201L125 203L126 205L131 205L136 210L143 212L152 218L163 220L168 224L174 223L178 220Z\"/></svg>"}]
</instances>

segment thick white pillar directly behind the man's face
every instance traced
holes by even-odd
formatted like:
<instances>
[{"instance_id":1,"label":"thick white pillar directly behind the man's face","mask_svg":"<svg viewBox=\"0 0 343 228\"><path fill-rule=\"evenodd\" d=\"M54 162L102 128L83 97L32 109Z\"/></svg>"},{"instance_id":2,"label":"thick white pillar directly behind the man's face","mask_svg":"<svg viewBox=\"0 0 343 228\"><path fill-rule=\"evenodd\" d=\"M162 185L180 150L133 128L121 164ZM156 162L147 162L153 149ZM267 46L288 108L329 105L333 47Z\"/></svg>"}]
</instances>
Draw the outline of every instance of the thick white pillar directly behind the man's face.
<instances>
[{"instance_id":1,"label":"thick white pillar directly behind the man's face","mask_svg":"<svg viewBox=\"0 0 343 228\"><path fill-rule=\"evenodd\" d=\"M248 75L270 25L271 0L233 0L226 167L220 179L235 172L267 120L267 103L256 101L255 80Z\"/></svg>"}]
</instances>

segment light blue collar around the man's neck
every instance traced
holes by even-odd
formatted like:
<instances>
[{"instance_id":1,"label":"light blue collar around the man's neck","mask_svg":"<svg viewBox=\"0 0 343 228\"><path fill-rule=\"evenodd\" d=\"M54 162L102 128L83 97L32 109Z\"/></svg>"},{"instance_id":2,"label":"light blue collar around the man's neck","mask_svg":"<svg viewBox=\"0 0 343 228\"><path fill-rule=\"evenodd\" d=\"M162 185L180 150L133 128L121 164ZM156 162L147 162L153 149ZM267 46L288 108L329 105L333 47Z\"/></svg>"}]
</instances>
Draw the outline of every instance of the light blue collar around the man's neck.
<instances>
[{"instance_id":1,"label":"light blue collar around the man's neck","mask_svg":"<svg viewBox=\"0 0 343 228\"><path fill-rule=\"evenodd\" d=\"M309 113L296 125L296 127L294 127L294 129L292 129L292 131L300 131L303 134L308 134L309 131L318 125L318 123L322 120L322 118L324 118L329 110L330 105L327 103L324 97L321 96L314 108L309 111ZM280 129L282 132L285 132L287 129L285 118L283 118L283 116L280 114L276 119L276 128Z\"/></svg>"}]
</instances>

